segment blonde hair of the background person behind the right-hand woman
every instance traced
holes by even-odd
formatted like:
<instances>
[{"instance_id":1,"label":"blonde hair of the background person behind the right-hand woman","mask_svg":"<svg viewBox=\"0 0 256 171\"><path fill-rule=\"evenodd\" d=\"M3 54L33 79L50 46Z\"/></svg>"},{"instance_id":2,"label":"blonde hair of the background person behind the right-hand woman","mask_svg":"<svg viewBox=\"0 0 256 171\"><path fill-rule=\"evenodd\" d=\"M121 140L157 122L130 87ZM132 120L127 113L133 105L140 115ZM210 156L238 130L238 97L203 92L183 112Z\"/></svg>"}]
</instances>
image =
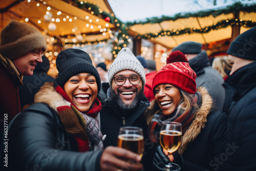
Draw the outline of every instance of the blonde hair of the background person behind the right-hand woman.
<instances>
[{"instance_id":1,"label":"blonde hair of the background person behind the right-hand woman","mask_svg":"<svg viewBox=\"0 0 256 171\"><path fill-rule=\"evenodd\" d=\"M224 78L229 75L232 65L227 57L217 57L212 61L212 68L216 69Z\"/></svg>"}]
</instances>

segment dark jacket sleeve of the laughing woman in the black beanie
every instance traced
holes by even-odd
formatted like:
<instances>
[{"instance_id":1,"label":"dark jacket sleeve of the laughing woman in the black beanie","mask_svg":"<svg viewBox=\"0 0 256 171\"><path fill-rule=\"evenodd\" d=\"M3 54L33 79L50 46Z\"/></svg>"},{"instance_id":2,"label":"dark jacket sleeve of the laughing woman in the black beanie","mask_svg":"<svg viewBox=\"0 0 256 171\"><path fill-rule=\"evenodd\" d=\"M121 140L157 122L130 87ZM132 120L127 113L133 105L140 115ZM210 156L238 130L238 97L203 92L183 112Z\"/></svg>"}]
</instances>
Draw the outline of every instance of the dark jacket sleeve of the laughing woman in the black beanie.
<instances>
[{"instance_id":1,"label":"dark jacket sleeve of the laughing woman in the black beanie","mask_svg":"<svg viewBox=\"0 0 256 171\"><path fill-rule=\"evenodd\" d=\"M8 135L8 167L4 169L100 170L102 151L78 153L75 139L45 103L35 103L19 114Z\"/></svg>"}]
</instances>

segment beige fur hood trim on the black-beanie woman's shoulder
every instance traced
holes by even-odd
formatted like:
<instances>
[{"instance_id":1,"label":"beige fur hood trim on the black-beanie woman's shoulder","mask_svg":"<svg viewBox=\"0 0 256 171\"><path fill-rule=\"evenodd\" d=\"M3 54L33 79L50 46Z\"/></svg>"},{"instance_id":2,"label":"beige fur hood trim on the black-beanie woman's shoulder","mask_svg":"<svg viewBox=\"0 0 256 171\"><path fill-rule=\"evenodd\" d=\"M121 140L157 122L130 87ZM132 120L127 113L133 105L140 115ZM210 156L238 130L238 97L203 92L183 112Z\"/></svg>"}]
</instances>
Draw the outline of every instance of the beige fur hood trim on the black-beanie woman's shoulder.
<instances>
[{"instance_id":1,"label":"beige fur hood trim on the black-beanie woman's shoulder","mask_svg":"<svg viewBox=\"0 0 256 171\"><path fill-rule=\"evenodd\" d=\"M63 97L56 92L53 83L46 82L40 90L35 94L35 103L46 103L52 109L57 111L57 106L67 105L63 100Z\"/></svg>"}]
</instances>

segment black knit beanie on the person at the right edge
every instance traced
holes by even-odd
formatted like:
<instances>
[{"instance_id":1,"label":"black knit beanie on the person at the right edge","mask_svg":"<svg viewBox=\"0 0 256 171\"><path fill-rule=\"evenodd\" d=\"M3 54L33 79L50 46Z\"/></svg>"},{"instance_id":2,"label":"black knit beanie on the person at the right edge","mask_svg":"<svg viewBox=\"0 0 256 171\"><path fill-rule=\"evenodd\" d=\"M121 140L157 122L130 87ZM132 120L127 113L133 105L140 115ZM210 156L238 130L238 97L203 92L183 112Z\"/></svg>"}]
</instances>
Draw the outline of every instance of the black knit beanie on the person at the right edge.
<instances>
[{"instance_id":1,"label":"black knit beanie on the person at the right edge","mask_svg":"<svg viewBox=\"0 0 256 171\"><path fill-rule=\"evenodd\" d=\"M256 27L253 27L231 42L227 54L239 58L256 60Z\"/></svg>"}]
</instances>

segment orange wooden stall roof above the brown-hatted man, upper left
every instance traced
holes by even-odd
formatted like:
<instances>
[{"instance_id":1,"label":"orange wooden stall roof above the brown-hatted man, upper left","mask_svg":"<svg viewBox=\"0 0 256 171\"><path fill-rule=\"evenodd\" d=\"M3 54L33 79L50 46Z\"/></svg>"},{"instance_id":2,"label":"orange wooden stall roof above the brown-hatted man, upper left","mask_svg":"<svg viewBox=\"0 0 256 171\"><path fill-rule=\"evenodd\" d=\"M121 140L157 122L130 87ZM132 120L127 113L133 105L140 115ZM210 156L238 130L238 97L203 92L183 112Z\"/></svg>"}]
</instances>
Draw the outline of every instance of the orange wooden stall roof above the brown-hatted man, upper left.
<instances>
[{"instance_id":1,"label":"orange wooden stall roof above the brown-hatted man, upper left","mask_svg":"<svg viewBox=\"0 0 256 171\"><path fill-rule=\"evenodd\" d=\"M88 0L87 2L97 5L102 11L113 13L107 1ZM74 1L0 0L0 31L11 20L27 22L43 33L58 38L81 34L84 41L108 39L108 32L102 35L100 29L115 30L115 25L103 17L93 15L86 8L79 8Z\"/></svg>"}]
</instances>

